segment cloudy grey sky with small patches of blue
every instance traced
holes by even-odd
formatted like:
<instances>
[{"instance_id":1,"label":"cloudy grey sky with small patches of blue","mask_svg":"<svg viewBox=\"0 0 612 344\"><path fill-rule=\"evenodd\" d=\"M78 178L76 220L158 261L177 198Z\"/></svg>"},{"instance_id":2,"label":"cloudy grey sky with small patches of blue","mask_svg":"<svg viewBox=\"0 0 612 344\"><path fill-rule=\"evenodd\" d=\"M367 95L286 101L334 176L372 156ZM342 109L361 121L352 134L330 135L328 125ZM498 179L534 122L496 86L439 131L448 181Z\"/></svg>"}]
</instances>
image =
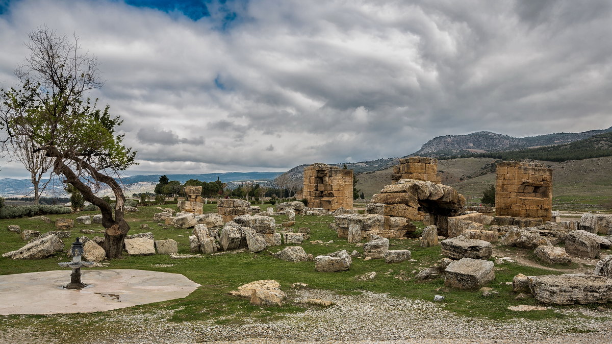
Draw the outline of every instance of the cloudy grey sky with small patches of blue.
<instances>
[{"instance_id":1,"label":"cloudy grey sky with small patches of blue","mask_svg":"<svg viewBox=\"0 0 612 344\"><path fill-rule=\"evenodd\" d=\"M0 87L46 25L97 57L126 174L286 171L608 128L610 23L608 0L0 0Z\"/></svg>"}]
</instances>

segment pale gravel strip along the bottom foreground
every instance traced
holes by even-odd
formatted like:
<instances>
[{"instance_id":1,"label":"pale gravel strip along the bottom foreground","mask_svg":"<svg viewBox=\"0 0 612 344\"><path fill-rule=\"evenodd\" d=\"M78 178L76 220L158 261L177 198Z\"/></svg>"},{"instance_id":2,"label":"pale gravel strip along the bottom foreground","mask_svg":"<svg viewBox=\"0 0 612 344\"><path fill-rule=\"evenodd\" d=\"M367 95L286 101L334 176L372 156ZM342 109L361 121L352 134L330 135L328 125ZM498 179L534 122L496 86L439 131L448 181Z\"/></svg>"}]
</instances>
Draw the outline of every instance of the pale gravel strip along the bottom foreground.
<instances>
[{"instance_id":1,"label":"pale gravel strip along the bottom foreground","mask_svg":"<svg viewBox=\"0 0 612 344\"><path fill-rule=\"evenodd\" d=\"M241 325L218 325L212 320L170 323L171 311L155 315L121 315L105 323L130 324L121 337L99 330L88 332L87 343L610 343L612 310L584 307L556 312L583 315L545 321L494 321L454 315L429 301L397 299L365 292L339 296L324 290L297 291L297 299L321 298L337 302L329 308L313 307L281 320L258 323L245 318ZM510 310L508 312L511 312ZM102 313L104 314L104 313ZM234 318L236 318L236 315ZM584 320L588 319L588 320ZM230 319L231 320L231 319ZM5 320L10 321L10 320ZM37 319L32 322L39 321ZM62 321L58 316L55 321ZM112 325L110 325L112 326ZM583 333L576 333L583 332ZM587 333L584 333L587 332ZM28 331L0 332L0 343L63 343Z\"/></svg>"}]
</instances>

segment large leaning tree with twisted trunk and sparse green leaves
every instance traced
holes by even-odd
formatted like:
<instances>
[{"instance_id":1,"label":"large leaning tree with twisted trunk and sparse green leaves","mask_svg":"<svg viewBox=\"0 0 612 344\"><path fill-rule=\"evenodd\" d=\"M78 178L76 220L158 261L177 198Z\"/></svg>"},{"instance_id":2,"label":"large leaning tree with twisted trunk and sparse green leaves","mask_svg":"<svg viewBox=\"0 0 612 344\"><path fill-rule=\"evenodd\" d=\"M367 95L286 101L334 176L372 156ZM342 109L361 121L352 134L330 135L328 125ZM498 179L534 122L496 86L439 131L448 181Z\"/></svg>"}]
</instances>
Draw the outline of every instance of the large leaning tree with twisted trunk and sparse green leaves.
<instances>
[{"instance_id":1,"label":"large leaning tree with twisted trunk and sparse green leaves","mask_svg":"<svg viewBox=\"0 0 612 344\"><path fill-rule=\"evenodd\" d=\"M86 92L100 88L97 61L83 53L78 37L68 39L47 27L28 34L29 56L15 70L20 86L0 91L0 126L8 140L31 140L53 159L53 172L100 208L106 228L103 248L107 258L120 258L130 230L124 219L125 196L113 177L135 164L136 152L116 134L122 121L111 117L108 105ZM114 208L95 195L102 184L113 190Z\"/></svg>"}]
</instances>

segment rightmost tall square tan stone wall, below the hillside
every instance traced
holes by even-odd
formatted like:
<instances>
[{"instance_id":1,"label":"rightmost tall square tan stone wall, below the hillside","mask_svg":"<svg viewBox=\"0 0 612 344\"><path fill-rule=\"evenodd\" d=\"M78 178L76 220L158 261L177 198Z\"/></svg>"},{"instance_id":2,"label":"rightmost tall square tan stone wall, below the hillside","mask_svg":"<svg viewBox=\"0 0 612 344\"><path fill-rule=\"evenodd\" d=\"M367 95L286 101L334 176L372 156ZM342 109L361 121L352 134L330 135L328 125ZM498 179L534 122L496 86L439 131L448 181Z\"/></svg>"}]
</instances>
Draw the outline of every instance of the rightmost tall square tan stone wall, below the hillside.
<instances>
[{"instance_id":1,"label":"rightmost tall square tan stone wall, below the hillside","mask_svg":"<svg viewBox=\"0 0 612 344\"><path fill-rule=\"evenodd\" d=\"M496 215L550 220L552 208L551 168L527 162L497 164Z\"/></svg>"}]
</instances>

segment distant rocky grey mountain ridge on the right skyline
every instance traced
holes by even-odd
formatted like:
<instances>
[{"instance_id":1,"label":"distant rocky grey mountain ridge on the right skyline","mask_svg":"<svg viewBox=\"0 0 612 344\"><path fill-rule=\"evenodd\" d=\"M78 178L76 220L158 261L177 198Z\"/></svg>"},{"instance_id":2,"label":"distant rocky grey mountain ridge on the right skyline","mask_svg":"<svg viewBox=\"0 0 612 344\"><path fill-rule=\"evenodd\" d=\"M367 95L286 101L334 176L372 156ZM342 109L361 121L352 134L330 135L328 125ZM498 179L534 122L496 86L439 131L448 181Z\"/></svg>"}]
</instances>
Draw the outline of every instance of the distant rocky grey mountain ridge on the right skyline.
<instances>
[{"instance_id":1,"label":"distant rocky grey mountain ridge on the right skyline","mask_svg":"<svg viewBox=\"0 0 612 344\"><path fill-rule=\"evenodd\" d=\"M432 138L410 155L443 157L469 153L516 151L519 149L551 146L584 140L593 135L612 132L612 127L580 133L551 133L517 138L493 132L476 132L467 135L445 135Z\"/></svg>"}]
</instances>

